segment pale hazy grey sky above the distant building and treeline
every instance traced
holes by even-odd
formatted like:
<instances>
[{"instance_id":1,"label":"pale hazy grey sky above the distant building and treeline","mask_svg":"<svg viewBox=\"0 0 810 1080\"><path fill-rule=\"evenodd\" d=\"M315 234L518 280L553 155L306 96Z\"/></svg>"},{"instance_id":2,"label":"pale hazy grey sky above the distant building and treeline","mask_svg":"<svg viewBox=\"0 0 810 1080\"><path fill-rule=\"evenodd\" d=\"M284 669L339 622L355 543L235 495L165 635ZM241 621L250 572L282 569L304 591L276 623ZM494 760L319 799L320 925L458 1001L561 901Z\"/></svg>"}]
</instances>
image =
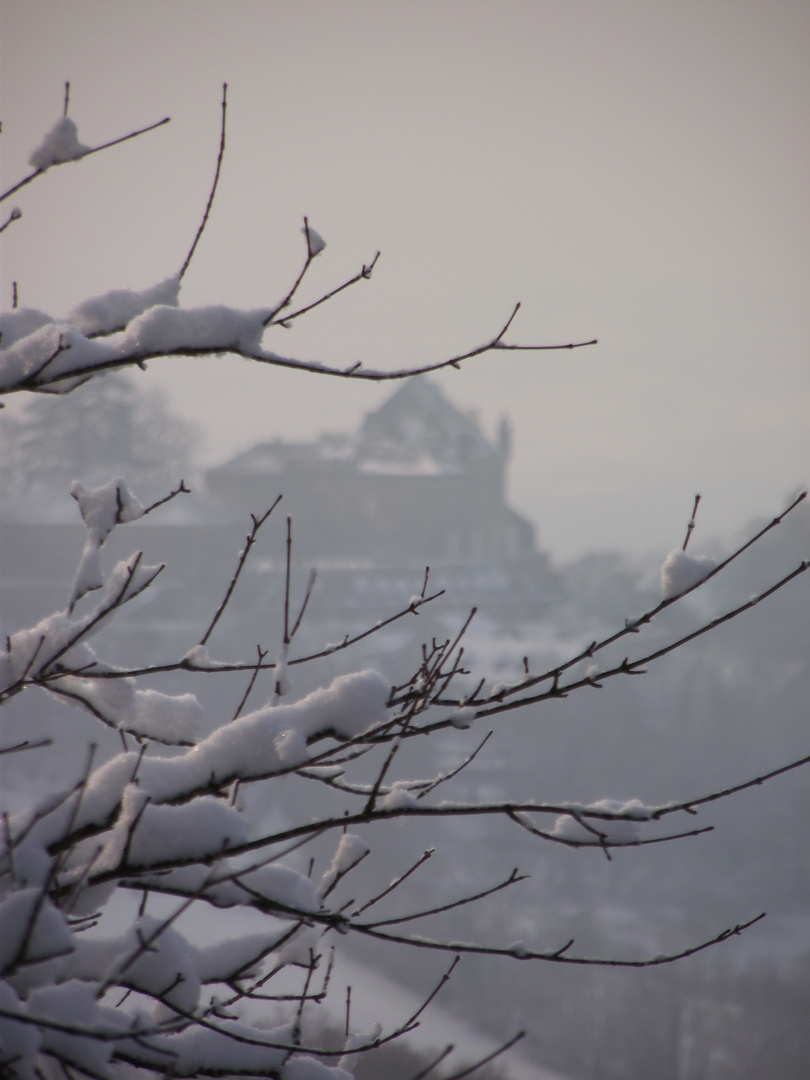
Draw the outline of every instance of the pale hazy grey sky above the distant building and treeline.
<instances>
[{"instance_id":1,"label":"pale hazy grey sky above the distant building and treeline","mask_svg":"<svg viewBox=\"0 0 810 1080\"><path fill-rule=\"evenodd\" d=\"M810 480L810 4L806 0L4 0L4 186L62 110L98 144L21 191L1 297L54 315L179 268L181 302L261 306L328 243L303 297L372 282L272 346L399 366L519 342L441 382L492 433L558 559L667 549L696 491L729 536ZM392 387L241 360L148 375L219 461L350 430ZM700 539L700 534L698 535Z\"/></svg>"}]
</instances>

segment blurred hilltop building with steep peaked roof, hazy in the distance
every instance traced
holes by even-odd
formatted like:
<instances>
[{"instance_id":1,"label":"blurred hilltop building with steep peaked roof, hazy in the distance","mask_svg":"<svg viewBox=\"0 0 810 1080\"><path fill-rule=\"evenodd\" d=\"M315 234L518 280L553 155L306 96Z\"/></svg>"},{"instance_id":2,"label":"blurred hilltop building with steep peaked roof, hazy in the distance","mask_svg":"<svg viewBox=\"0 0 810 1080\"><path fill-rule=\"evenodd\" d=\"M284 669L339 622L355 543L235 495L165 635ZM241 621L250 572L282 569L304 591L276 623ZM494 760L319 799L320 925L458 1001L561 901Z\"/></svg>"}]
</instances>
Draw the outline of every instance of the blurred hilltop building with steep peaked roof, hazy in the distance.
<instances>
[{"instance_id":1,"label":"blurred hilltop building with steep peaked roof, hazy in the distance","mask_svg":"<svg viewBox=\"0 0 810 1080\"><path fill-rule=\"evenodd\" d=\"M503 566L535 561L530 522L505 504L509 424L497 443L424 377L405 381L356 434L259 443L206 473L242 513L279 495L296 550L319 566Z\"/></svg>"}]
</instances>

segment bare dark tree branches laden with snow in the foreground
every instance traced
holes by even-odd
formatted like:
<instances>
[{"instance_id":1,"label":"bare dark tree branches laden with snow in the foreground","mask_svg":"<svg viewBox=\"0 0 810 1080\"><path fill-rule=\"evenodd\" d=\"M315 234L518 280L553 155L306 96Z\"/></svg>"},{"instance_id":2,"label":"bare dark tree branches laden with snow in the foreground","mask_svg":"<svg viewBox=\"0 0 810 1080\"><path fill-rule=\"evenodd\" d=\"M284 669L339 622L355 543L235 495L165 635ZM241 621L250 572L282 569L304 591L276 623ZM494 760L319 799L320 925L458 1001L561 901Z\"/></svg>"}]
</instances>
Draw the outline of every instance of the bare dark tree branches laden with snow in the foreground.
<instances>
[{"instance_id":1,"label":"bare dark tree branches laden with snow in the foreground","mask_svg":"<svg viewBox=\"0 0 810 1080\"><path fill-rule=\"evenodd\" d=\"M65 113L31 156L33 172L0 199L53 165L102 149L79 143L76 125L67 118L67 97ZM214 187L180 271L143 293L116 291L87 301L76 309L72 321L58 323L36 313L12 311L2 325L2 392L62 394L104 372L177 354L234 353L271 366L354 379L414 374L369 372L357 366L340 370L291 360L264 348L266 330L289 325L343 288L367 279L376 262L375 257L325 296L294 308L307 270L325 246L306 219L303 266L281 303L259 311L177 306L180 282L202 235L219 178L225 116L224 97ZM6 224L17 217L13 212ZM504 341L515 312L490 341L420 370L458 366L468 356L487 351L549 348ZM134 424L138 418L143 421L144 415L127 410L119 384L113 383L113 388L109 401L118 410L119 435L139 453L147 435L141 438ZM39 410L32 413L29 435L39 424L44 437L46 421L42 416ZM72 432L73 442L84 445L83 432L69 424L64 430ZM102 445L109 445L103 444L102 437L108 440L106 429L104 436L98 436L96 456L100 456ZM93 449L82 453L91 462ZM117 458L116 448L109 453ZM43 467L57 468L50 443L42 454ZM146 469L152 458L141 456L138 460ZM108 460L103 463L110 465ZM438 788L451 792L453 780L484 750L488 735L481 738L476 732L482 720L572 693L592 692L613 678L642 673L660 657L735 618L804 573L810 565L807 562L761 596L746 598L723 618L698 623L664 645L660 640L650 644L645 637L648 625L662 611L775 528L804 496L717 565L687 554L692 518L683 550L672 552L664 564L663 599L548 671L532 672L526 660L523 674L510 684L490 686L477 679L464 667L468 620L447 639L426 642L414 657L413 674L401 685L391 686L374 671L350 669L329 685L289 701L289 673L296 665L339 656L435 603L440 594L431 592L429 571L389 619L303 654L296 651L296 635L315 582L310 579L303 595L291 595L288 521L280 639L257 646L255 657L216 659L212 650L217 625L232 603L256 536L274 503L253 517L235 569L224 583L222 602L200 627L197 640L185 642L172 656L156 656L143 666L107 663L91 638L104 642L109 622L152 586L163 567L145 565L136 552L108 569L103 559L105 543L114 528L151 513L180 491L177 487L164 499L144 507L120 478L93 488L81 481L73 484L71 494L85 525L86 541L68 605L33 626L9 633L0 652L0 703L11 705L23 692L46 691L50 698L80 706L113 730L122 743L121 753L106 761L97 761L95 747L89 747L86 766L75 782L66 778L59 791L40 791L35 785L27 807L3 815L0 1070L4 1077L72 1080L87 1076L107 1080L135 1069L166 1077L346 1080L361 1055L414 1029L464 955L542 964L659 967L718 945L757 921L748 919L706 941L686 942L669 955L602 958L577 953L573 941L510 943L498 940L494 931L487 941L459 942L451 933L442 934L442 920L448 913L451 919L461 906L512 889L522 880L517 869L472 894L461 890L449 900L446 892L442 895L448 882L434 882L441 886L434 889L436 899L423 909L406 912L399 907L402 893L397 890L411 874L424 873L430 849L409 864L403 862L393 881L374 882L372 878L360 896L347 894L345 881L361 863L367 865L369 854L368 862L373 861L373 846L380 845L380 832L383 838L388 836L382 842L395 848L390 826L399 820L419 818L437 823L448 818L497 818L529 842L592 848L610 858L613 848L698 835L708 827L694 824L694 814L704 805L807 764L810 758L795 760L768 774L732 782L724 791L689 793L689 798L660 806L643 805L637 799L554 804L536 797L445 801L436 795ZM610 650L618 643L621 651L617 654ZM625 648L627 654L622 658ZM179 690L176 684L165 681L170 676L179 681ZM232 680L233 711L228 716L217 715L205 734L203 707L187 687L204 689L213 676ZM269 696L248 712L247 702L258 692L261 679ZM458 739L455 761L443 768L429 765L426 775L410 775L406 770L413 766L403 765L407 747L414 740L424 743L440 732ZM33 734L0 750L5 755L43 754ZM315 804L307 798L306 810L294 822L279 824L278 816L271 816L262 824L252 819L243 801L245 792L257 784L266 785L271 801L275 797L285 809L291 806L285 798L289 785L320 789L323 799L318 806L325 809L313 812ZM686 825L671 831L666 827L670 819ZM309 855L305 872L291 865L291 859L301 850ZM352 880L362 877L359 874ZM127 896L135 897L135 905L126 904ZM108 936L93 934L92 929L110 909L129 913L123 926L108 929ZM224 913L230 910L241 919L249 916L259 920L260 929L245 932L241 928L235 939L224 933L219 936L217 930L214 940L192 944L186 923L200 909L213 912L217 927L226 918ZM440 929L432 932L431 927ZM421 1008L387 1031L379 1027L357 1030L347 996L340 1044L335 1048L328 1039L321 1041L314 1017L328 993L335 947L345 935L360 935L380 947L397 945L414 954L445 955L447 970ZM478 1064L488 1063L519 1037L521 1032L515 1034ZM420 1066L418 1076L446 1069L449 1052L447 1048L428 1066ZM459 1052L462 1058L467 1056L464 1048ZM460 1078L469 1071L462 1066L451 1075Z\"/></svg>"}]
</instances>

